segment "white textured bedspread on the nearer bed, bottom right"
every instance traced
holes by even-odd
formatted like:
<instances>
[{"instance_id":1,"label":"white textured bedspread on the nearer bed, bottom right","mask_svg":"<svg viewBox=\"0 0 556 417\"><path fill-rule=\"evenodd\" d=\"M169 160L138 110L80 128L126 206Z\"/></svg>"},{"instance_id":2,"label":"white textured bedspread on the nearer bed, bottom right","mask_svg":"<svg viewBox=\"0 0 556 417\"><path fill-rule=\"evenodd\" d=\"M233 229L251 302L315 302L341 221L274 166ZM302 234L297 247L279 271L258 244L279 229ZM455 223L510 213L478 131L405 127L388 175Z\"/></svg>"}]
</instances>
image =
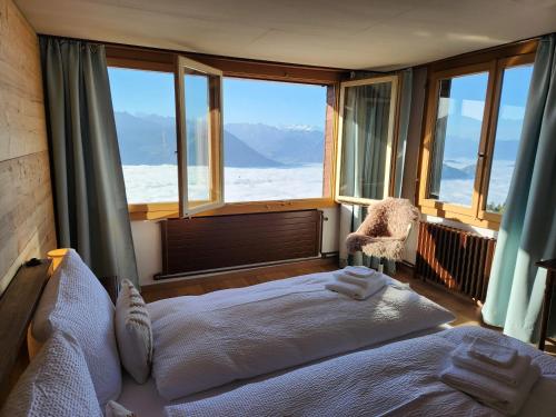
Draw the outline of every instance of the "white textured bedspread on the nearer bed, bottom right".
<instances>
[{"instance_id":1,"label":"white textured bedspread on the nearer bed, bottom right","mask_svg":"<svg viewBox=\"0 0 556 417\"><path fill-rule=\"evenodd\" d=\"M344 355L246 384L219 396L168 406L166 411L169 417L500 416L438 378L464 335L480 335L532 356L543 377L534 386L520 415L556 415L556 359L479 327L455 328Z\"/></svg>"}]
</instances>

